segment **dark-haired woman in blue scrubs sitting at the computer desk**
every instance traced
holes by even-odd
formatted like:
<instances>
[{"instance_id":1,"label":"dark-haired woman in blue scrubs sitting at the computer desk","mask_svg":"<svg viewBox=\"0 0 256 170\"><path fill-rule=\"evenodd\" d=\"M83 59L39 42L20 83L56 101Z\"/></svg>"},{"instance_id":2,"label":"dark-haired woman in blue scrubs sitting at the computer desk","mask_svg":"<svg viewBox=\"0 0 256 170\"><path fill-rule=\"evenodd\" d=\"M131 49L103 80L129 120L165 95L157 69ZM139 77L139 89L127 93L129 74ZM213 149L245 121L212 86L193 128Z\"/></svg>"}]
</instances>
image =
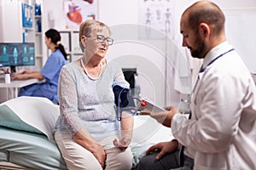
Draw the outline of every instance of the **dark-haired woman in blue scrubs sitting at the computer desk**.
<instances>
[{"instance_id":1,"label":"dark-haired woman in blue scrubs sitting at the computer desk","mask_svg":"<svg viewBox=\"0 0 256 170\"><path fill-rule=\"evenodd\" d=\"M61 35L55 29L45 32L45 44L52 54L49 55L41 71L22 71L14 73L15 80L38 78L40 83L35 83L20 88L19 96L45 97L53 103L58 103L58 79L61 67L67 64L67 53L61 44Z\"/></svg>"}]
</instances>

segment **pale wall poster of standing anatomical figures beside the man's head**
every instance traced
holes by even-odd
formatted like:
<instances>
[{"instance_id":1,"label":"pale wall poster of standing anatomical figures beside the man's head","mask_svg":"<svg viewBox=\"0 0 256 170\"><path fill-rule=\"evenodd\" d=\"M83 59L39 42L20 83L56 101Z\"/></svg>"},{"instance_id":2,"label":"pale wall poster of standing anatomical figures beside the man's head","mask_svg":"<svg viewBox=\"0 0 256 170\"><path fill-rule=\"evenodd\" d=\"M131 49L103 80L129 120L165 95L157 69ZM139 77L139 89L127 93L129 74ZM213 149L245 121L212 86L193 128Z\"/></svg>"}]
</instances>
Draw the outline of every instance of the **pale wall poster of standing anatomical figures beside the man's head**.
<instances>
[{"instance_id":1,"label":"pale wall poster of standing anatomical figures beside the man's head","mask_svg":"<svg viewBox=\"0 0 256 170\"><path fill-rule=\"evenodd\" d=\"M140 38L163 39L173 35L173 0L139 0Z\"/></svg>"}]
</instances>

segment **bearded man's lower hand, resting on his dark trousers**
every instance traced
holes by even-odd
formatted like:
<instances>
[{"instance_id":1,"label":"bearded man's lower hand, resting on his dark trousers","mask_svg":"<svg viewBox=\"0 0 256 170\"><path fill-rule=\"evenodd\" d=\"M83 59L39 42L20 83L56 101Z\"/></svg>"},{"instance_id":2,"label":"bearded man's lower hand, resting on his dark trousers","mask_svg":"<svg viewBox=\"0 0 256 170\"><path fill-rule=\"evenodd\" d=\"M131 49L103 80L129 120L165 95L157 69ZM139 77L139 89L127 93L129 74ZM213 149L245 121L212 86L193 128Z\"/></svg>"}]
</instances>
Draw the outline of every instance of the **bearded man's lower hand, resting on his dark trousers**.
<instances>
[{"instance_id":1,"label":"bearded man's lower hand, resting on his dark trousers","mask_svg":"<svg viewBox=\"0 0 256 170\"><path fill-rule=\"evenodd\" d=\"M160 150L160 153L155 156L156 160L160 160L160 158L162 158L166 154L172 153L172 151L177 150L177 148L178 143L176 139L168 142L160 142L148 148L148 150L146 151L146 155L148 155L151 151Z\"/></svg>"}]
</instances>

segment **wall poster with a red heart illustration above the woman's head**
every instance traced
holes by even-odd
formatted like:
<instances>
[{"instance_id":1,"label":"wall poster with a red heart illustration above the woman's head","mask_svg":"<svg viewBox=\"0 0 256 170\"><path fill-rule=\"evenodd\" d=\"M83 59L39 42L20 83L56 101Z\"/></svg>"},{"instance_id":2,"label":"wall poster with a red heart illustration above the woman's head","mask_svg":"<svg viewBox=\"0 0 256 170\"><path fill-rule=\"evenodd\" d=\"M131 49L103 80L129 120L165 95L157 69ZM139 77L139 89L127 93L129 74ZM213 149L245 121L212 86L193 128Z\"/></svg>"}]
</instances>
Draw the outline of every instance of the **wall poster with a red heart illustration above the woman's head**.
<instances>
[{"instance_id":1,"label":"wall poster with a red heart illustration above the woman's head","mask_svg":"<svg viewBox=\"0 0 256 170\"><path fill-rule=\"evenodd\" d=\"M97 20L98 0L62 0L67 29L79 30L84 20Z\"/></svg>"}]
</instances>

